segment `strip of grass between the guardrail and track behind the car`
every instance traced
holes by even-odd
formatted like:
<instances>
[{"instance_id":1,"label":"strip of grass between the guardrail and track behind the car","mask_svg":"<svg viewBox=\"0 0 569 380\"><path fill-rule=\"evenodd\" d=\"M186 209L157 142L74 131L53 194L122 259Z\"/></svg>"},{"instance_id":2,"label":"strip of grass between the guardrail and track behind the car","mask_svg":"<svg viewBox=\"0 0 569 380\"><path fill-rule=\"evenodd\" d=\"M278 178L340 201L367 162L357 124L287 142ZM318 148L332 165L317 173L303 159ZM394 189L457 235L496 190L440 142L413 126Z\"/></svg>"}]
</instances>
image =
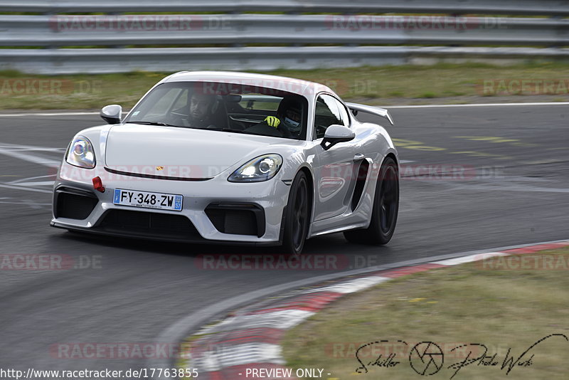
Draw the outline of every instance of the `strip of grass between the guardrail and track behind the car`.
<instances>
[{"instance_id":1,"label":"strip of grass between the guardrail and track behind the car","mask_svg":"<svg viewBox=\"0 0 569 380\"><path fill-rule=\"evenodd\" d=\"M324 83L344 100L376 105L569 100L566 63L508 67L440 63L270 73ZM111 103L129 109L167 74L34 75L0 71L0 110L98 110ZM493 82L486 82L485 87L488 80ZM521 80L527 81L525 87L516 82ZM542 80L551 81L548 88L543 88Z\"/></svg>"}]
</instances>

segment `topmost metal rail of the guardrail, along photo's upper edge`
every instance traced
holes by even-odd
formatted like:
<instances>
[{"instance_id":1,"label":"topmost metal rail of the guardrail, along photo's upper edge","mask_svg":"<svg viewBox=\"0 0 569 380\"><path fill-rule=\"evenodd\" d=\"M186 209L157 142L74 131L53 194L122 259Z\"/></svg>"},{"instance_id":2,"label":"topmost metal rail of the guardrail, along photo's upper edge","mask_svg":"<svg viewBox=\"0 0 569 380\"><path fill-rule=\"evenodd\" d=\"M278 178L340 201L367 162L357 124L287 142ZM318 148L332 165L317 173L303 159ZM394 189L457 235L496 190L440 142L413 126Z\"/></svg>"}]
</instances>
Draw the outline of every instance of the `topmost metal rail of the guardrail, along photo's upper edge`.
<instances>
[{"instance_id":1,"label":"topmost metal rail of the guardrail, along photo's upper edge","mask_svg":"<svg viewBox=\"0 0 569 380\"><path fill-rule=\"evenodd\" d=\"M569 16L569 1L559 0L62 0L0 1L0 12L283 12L508 14Z\"/></svg>"}]
</instances>

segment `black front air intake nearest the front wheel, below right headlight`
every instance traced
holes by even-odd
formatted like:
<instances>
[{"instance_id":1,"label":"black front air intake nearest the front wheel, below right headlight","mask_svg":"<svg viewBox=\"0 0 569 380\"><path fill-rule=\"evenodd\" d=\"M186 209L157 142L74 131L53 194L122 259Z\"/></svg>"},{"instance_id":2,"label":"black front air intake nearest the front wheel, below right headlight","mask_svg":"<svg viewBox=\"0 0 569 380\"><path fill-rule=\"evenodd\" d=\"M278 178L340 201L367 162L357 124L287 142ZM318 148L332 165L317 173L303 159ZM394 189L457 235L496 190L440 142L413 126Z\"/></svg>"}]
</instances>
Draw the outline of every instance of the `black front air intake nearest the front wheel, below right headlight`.
<instances>
[{"instance_id":1,"label":"black front air intake nearest the front wheel, below right headlight","mask_svg":"<svg viewBox=\"0 0 569 380\"><path fill-rule=\"evenodd\" d=\"M265 213L253 204L211 204L206 215L221 233L259 237L265 234Z\"/></svg>"}]
</instances>

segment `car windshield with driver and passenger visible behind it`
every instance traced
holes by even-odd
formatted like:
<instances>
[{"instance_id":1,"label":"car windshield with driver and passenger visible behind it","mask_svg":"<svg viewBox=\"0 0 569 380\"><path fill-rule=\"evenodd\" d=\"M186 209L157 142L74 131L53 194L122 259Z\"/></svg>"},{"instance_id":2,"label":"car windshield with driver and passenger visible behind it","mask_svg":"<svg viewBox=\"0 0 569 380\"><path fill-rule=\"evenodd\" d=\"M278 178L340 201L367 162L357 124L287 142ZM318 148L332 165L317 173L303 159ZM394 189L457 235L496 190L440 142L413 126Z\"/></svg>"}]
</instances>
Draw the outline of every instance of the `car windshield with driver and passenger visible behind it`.
<instances>
[{"instance_id":1,"label":"car windshield with driver and passenger visible behind it","mask_svg":"<svg viewBox=\"0 0 569 380\"><path fill-rule=\"evenodd\" d=\"M302 95L272 88L173 82L157 85L125 122L306 139L307 108Z\"/></svg>"}]
</instances>

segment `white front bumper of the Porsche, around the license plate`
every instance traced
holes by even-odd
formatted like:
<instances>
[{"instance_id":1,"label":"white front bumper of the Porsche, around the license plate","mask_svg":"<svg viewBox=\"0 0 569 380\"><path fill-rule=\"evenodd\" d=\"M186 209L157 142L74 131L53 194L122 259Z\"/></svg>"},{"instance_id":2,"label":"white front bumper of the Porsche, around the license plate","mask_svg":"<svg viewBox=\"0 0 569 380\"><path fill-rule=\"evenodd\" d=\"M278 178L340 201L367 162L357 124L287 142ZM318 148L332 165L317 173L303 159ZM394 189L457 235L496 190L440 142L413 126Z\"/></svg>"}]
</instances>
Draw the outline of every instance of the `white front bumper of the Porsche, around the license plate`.
<instances>
[{"instance_id":1,"label":"white front bumper of the Porsche, around the license plate","mask_svg":"<svg viewBox=\"0 0 569 380\"><path fill-rule=\"evenodd\" d=\"M95 176L102 179L104 193L93 189ZM223 174L208 181L174 181L80 169L63 162L54 185L50 225L163 241L277 245L289 194L289 186L277 177L243 184L229 182ZM182 194L183 209L115 205L115 189Z\"/></svg>"}]
</instances>

